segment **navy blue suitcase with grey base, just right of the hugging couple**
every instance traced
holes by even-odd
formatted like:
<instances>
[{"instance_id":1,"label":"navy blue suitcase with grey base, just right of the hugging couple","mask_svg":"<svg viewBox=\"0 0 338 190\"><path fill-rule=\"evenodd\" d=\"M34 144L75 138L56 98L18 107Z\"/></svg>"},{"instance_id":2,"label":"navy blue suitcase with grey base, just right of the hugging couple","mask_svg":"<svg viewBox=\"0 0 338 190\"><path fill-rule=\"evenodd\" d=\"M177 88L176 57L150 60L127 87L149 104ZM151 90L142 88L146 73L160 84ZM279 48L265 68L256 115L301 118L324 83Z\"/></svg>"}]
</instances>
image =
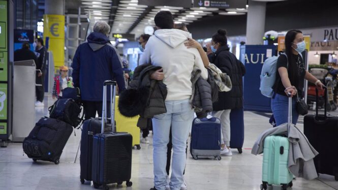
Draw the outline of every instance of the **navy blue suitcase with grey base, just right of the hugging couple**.
<instances>
[{"instance_id":1,"label":"navy blue suitcase with grey base, just right of the hugging couple","mask_svg":"<svg viewBox=\"0 0 338 190\"><path fill-rule=\"evenodd\" d=\"M217 117L195 118L191 130L190 153L198 157L213 156L221 160L221 120Z\"/></svg>"}]
</instances>

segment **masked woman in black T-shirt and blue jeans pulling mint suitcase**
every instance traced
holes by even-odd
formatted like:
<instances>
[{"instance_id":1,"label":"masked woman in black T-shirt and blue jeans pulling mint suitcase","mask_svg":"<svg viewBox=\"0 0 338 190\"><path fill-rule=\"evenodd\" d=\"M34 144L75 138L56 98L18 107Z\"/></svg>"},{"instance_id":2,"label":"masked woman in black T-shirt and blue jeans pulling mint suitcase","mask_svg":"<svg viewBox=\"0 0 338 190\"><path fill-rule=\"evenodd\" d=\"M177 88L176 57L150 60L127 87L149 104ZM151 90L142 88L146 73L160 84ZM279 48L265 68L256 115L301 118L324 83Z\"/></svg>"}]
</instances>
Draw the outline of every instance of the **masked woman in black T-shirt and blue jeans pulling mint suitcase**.
<instances>
[{"instance_id":1,"label":"masked woman in black T-shirt and blue jeans pulling mint suitcase","mask_svg":"<svg viewBox=\"0 0 338 190\"><path fill-rule=\"evenodd\" d=\"M302 98L304 79L315 83L318 88L323 89L323 83L305 69L301 52L305 50L303 34L300 30L292 29L285 36L285 54L277 60L276 79L273 85L273 96L271 98L271 110L276 126L288 122L288 97L291 93L292 100L292 123L296 124L298 113L296 111L296 94Z\"/></svg>"}]
</instances>

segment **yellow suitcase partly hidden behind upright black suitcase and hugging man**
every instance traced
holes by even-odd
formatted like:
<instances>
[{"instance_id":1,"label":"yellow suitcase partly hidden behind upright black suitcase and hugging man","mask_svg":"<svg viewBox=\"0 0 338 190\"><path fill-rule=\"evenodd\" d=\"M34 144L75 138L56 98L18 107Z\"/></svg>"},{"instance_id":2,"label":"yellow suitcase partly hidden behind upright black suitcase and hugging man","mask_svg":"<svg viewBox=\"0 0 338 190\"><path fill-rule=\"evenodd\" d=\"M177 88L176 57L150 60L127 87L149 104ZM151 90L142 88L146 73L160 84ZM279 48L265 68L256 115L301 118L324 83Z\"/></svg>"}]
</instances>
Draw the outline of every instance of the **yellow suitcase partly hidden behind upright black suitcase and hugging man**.
<instances>
[{"instance_id":1,"label":"yellow suitcase partly hidden behind upright black suitcase and hugging man","mask_svg":"<svg viewBox=\"0 0 338 190\"><path fill-rule=\"evenodd\" d=\"M116 96L116 102L118 102L118 96ZM115 104L115 120L116 120L116 132L127 132L133 136L133 146L137 149L141 149L140 146L140 128L137 127L137 121L139 116L133 118L125 117L118 111L118 104Z\"/></svg>"}]
</instances>

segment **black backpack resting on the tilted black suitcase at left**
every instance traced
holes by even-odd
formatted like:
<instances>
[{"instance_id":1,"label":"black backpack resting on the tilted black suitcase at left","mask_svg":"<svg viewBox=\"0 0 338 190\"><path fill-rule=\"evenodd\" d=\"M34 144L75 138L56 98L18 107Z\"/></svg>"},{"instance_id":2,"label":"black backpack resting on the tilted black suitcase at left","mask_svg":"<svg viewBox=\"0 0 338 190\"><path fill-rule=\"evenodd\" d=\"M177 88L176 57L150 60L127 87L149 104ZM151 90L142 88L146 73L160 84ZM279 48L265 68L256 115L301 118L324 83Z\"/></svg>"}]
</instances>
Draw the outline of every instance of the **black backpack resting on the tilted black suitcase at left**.
<instances>
[{"instance_id":1,"label":"black backpack resting on the tilted black suitcase at left","mask_svg":"<svg viewBox=\"0 0 338 190\"><path fill-rule=\"evenodd\" d=\"M83 114L81 118L79 117L82 110L81 105L73 99L59 99L48 110L50 118L65 121L74 128L83 120Z\"/></svg>"}]
</instances>

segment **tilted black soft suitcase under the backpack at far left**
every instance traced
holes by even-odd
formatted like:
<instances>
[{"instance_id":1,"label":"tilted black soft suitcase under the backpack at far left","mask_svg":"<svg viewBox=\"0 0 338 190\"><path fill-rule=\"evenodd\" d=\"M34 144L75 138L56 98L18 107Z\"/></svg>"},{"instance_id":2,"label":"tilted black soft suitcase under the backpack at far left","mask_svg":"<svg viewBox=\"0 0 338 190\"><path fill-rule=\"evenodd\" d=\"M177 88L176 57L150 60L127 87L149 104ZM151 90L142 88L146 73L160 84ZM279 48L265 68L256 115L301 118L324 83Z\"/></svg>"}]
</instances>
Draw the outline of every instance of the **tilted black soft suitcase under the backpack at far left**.
<instances>
[{"instance_id":1,"label":"tilted black soft suitcase under the backpack at far left","mask_svg":"<svg viewBox=\"0 0 338 190\"><path fill-rule=\"evenodd\" d=\"M58 119L41 118L23 140L22 148L33 161L59 164L62 151L73 132L73 127Z\"/></svg>"}]
</instances>

